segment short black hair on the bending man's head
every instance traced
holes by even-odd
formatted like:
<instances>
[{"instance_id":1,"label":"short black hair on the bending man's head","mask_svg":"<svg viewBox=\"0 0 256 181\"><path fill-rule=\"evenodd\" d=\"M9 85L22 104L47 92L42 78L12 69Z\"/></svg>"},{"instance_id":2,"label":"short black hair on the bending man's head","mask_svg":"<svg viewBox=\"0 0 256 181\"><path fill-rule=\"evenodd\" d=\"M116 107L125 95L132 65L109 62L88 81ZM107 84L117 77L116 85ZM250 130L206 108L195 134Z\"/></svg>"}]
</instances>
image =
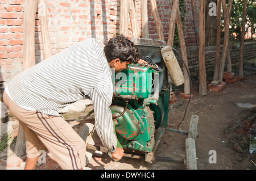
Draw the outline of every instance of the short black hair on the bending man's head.
<instances>
[{"instance_id":1,"label":"short black hair on the bending man's head","mask_svg":"<svg viewBox=\"0 0 256 181\"><path fill-rule=\"evenodd\" d=\"M137 64L141 58L138 48L123 35L114 36L104 47L108 62L119 58L121 62L129 61Z\"/></svg>"}]
</instances>

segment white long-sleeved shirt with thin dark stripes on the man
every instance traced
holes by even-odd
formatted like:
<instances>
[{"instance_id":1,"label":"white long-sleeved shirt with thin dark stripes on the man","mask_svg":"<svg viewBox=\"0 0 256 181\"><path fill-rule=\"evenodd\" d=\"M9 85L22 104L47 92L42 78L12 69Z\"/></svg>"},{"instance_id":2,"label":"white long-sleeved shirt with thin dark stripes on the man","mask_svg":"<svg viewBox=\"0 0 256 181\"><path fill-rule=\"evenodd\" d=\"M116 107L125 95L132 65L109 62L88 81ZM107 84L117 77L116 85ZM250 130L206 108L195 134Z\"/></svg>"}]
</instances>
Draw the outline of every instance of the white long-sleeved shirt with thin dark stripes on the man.
<instances>
[{"instance_id":1,"label":"white long-sleeved shirt with thin dark stripes on the man","mask_svg":"<svg viewBox=\"0 0 256 181\"><path fill-rule=\"evenodd\" d=\"M109 108L112 70L96 39L82 41L22 71L10 81L8 90L20 107L54 116L77 100L91 99L98 136L106 148L115 150L117 139Z\"/></svg>"}]
</instances>

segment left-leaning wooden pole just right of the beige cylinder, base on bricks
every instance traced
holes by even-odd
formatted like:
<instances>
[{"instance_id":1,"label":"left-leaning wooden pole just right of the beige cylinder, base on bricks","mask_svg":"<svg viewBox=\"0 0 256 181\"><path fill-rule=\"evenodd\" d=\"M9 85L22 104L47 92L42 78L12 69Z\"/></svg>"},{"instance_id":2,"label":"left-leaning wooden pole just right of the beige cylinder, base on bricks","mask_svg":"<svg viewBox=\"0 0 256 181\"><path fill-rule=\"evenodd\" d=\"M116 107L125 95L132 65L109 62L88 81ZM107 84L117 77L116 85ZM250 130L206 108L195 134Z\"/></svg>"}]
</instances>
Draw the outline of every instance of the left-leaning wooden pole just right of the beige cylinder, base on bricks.
<instances>
[{"instance_id":1,"label":"left-leaning wooden pole just right of the beige cylinder, base on bricks","mask_svg":"<svg viewBox=\"0 0 256 181\"><path fill-rule=\"evenodd\" d=\"M175 0L174 0L175 1ZM184 40L184 33L182 29L181 17L180 17L180 9L177 7L177 31L179 33L179 40L180 40L180 49L181 49L181 57L184 61L183 63L183 74L184 74L184 94L190 94L190 81L189 81L189 72L187 72L186 68L188 68L188 57L187 57L187 49ZM189 71L189 69L188 69Z\"/></svg>"}]
</instances>

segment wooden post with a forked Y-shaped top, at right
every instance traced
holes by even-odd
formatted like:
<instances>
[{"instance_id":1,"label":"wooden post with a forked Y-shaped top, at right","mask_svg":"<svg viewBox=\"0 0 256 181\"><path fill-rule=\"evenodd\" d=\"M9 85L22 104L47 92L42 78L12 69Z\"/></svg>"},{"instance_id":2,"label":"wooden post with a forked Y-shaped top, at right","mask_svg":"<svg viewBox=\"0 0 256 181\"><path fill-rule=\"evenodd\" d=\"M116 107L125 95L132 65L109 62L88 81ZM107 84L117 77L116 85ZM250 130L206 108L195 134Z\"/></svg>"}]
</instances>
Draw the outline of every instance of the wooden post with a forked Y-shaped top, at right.
<instances>
[{"instance_id":1,"label":"wooden post with a forked Y-shaped top, at right","mask_svg":"<svg viewBox=\"0 0 256 181\"><path fill-rule=\"evenodd\" d=\"M229 47L229 22L230 22L230 14L231 14L231 10L232 10L233 0L229 0L228 10L226 9L226 1L221 0L221 2L222 2L222 9L224 12L225 32L224 32L224 43L223 43L221 63L220 63L220 73L218 74L218 81L220 81L220 82L222 82L224 68L225 68L225 62L226 62L227 49Z\"/></svg>"}]
</instances>

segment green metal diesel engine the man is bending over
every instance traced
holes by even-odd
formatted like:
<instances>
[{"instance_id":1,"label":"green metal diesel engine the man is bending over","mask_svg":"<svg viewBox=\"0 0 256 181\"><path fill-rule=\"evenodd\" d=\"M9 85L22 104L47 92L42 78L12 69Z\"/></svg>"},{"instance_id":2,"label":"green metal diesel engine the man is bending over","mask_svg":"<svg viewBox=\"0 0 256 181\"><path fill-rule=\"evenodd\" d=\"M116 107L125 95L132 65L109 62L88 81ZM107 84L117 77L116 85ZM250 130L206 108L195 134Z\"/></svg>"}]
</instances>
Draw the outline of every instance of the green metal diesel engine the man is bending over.
<instances>
[{"instance_id":1,"label":"green metal diesel engine the man is bending over","mask_svg":"<svg viewBox=\"0 0 256 181\"><path fill-rule=\"evenodd\" d=\"M133 41L148 65L129 65L115 74L110 109L120 145L127 150L150 153L156 129L167 126L170 81L158 45L163 42L144 43L145 40Z\"/></svg>"}]
</instances>

